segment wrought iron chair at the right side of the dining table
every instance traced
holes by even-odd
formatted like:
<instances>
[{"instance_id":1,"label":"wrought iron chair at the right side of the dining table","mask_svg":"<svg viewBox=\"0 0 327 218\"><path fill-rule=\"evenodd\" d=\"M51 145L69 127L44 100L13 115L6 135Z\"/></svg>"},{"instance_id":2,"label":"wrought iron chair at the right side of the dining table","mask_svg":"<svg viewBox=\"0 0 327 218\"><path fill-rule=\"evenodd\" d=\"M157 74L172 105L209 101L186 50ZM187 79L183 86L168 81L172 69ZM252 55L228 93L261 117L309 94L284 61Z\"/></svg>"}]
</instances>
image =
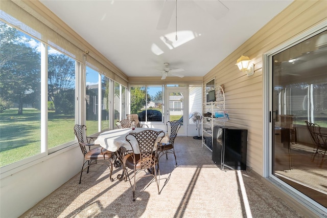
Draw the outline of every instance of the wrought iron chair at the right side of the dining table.
<instances>
[{"instance_id":1,"label":"wrought iron chair at the right side of the dining table","mask_svg":"<svg viewBox=\"0 0 327 218\"><path fill-rule=\"evenodd\" d=\"M173 120L173 121L168 121L166 123L167 126L167 134L169 135L169 140L168 143L159 143L158 144L158 159L162 155L166 154L166 159L168 159L168 153L173 154L175 157L175 162L177 165L177 160L176 160L176 154L175 154L175 148L174 148L174 141L177 136L177 132L181 126L181 121L180 120Z\"/></svg>"}]
</instances>

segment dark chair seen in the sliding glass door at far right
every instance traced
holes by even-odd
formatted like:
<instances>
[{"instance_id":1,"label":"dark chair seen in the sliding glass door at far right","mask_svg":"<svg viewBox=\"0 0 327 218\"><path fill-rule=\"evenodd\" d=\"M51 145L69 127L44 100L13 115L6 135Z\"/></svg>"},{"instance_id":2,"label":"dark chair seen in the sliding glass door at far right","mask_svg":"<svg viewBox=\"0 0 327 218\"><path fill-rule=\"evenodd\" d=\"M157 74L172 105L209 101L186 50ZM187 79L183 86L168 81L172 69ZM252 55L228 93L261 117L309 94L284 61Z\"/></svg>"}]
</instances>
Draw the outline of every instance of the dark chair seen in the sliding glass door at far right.
<instances>
[{"instance_id":1,"label":"dark chair seen in the sliding glass door at far right","mask_svg":"<svg viewBox=\"0 0 327 218\"><path fill-rule=\"evenodd\" d=\"M322 167L322 163L327 160L323 160L326 151L327 151L327 134L321 133L321 127L316 123L310 123L306 121L307 127L311 136L312 141L315 143L315 154L312 157L312 161L314 161L317 154L322 154L322 159L320 162L320 167Z\"/></svg>"}]
</instances>

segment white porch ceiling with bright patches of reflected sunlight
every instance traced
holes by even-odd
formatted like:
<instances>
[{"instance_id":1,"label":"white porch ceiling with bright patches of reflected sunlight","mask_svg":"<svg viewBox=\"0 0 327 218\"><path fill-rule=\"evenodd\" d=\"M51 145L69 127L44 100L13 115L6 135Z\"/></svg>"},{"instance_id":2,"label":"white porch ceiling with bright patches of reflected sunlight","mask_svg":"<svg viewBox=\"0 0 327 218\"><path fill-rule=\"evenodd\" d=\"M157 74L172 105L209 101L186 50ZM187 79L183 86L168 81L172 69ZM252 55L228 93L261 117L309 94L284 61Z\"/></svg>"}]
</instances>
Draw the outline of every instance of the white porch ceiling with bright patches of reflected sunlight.
<instances>
[{"instance_id":1,"label":"white porch ceiling with bright patches of reflected sunlight","mask_svg":"<svg viewBox=\"0 0 327 218\"><path fill-rule=\"evenodd\" d=\"M178 0L177 41L175 1L164 30L157 29L163 0L41 2L127 76L161 77L156 69L168 62L190 77L204 76L292 1Z\"/></svg>"}]
</instances>

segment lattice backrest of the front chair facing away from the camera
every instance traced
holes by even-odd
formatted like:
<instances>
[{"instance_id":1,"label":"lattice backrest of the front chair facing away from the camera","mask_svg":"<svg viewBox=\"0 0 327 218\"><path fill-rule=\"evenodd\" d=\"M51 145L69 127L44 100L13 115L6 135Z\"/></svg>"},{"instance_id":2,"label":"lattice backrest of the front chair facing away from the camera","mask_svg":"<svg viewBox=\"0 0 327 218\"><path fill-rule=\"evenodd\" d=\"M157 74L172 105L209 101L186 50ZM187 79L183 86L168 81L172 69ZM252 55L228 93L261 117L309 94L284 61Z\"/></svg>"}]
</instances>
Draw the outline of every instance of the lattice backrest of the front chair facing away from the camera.
<instances>
[{"instance_id":1,"label":"lattice backrest of the front chair facing away from the camera","mask_svg":"<svg viewBox=\"0 0 327 218\"><path fill-rule=\"evenodd\" d=\"M146 129L138 133L130 133L129 135L126 136L126 141L128 141L129 143L131 137L134 137L137 141L137 146L140 152L139 161L142 169L153 167L153 160L156 157L156 154L153 150L156 142L161 140L160 138L158 140L159 135L162 135L161 139L164 138L165 136L164 131L157 132L152 129ZM133 154L134 154L134 149L133 149ZM136 160L134 159L134 161Z\"/></svg>"}]
</instances>

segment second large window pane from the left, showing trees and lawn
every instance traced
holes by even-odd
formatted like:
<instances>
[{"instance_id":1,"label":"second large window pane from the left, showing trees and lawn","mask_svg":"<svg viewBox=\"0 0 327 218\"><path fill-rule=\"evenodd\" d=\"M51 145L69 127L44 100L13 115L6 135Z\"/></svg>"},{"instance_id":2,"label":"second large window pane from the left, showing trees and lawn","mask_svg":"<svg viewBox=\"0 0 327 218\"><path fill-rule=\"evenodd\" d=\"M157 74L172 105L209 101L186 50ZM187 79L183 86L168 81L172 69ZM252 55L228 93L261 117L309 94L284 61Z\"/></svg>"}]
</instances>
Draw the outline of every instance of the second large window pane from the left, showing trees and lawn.
<instances>
[{"instance_id":1,"label":"second large window pane from the left, showing trees and lawn","mask_svg":"<svg viewBox=\"0 0 327 218\"><path fill-rule=\"evenodd\" d=\"M75 139L75 64L72 58L49 47L48 148Z\"/></svg>"}]
</instances>

